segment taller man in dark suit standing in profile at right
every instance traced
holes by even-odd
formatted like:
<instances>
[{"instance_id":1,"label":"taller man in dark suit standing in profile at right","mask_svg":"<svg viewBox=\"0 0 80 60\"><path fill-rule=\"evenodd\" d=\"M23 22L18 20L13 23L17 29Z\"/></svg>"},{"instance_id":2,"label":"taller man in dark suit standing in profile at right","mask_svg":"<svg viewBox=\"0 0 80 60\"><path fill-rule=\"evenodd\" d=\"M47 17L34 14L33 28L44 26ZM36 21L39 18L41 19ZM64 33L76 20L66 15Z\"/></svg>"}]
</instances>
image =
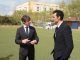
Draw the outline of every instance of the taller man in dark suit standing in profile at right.
<instances>
[{"instance_id":1,"label":"taller man in dark suit standing in profile at right","mask_svg":"<svg viewBox=\"0 0 80 60\"><path fill-rule=\"evenodd\" d=\"M54 49L52 51L54 60L68 60L73 50L72 31L70 26L63 22L64 13L55 10L52 21L57 25L54 33Z\"/></svg>"}]
</instances>

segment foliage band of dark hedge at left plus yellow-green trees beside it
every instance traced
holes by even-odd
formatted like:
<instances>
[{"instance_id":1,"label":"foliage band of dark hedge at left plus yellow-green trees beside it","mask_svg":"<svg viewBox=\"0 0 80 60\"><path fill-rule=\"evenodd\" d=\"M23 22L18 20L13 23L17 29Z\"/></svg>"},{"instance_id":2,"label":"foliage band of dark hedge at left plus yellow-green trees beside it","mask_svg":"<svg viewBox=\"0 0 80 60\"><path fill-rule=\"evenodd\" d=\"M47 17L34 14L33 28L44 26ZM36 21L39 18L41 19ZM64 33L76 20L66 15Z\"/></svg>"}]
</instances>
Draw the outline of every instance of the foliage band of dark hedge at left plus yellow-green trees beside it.
<instances>
[{"instance_id":1,"label":"foliage band of dark hedge at left plus yellow-green trees beside it","mask_svg":"<svg viewBox=\"0 0 80 60\"><path fill-rule=\"evenodd\" d=\"M12 16L0 16L0 24L21 24L21 17L23 15L29 15L32 22L38 21L50 21L51 11L43 12L27 12L27 11L15 11Z\"/></svg>"}]
</instances>

